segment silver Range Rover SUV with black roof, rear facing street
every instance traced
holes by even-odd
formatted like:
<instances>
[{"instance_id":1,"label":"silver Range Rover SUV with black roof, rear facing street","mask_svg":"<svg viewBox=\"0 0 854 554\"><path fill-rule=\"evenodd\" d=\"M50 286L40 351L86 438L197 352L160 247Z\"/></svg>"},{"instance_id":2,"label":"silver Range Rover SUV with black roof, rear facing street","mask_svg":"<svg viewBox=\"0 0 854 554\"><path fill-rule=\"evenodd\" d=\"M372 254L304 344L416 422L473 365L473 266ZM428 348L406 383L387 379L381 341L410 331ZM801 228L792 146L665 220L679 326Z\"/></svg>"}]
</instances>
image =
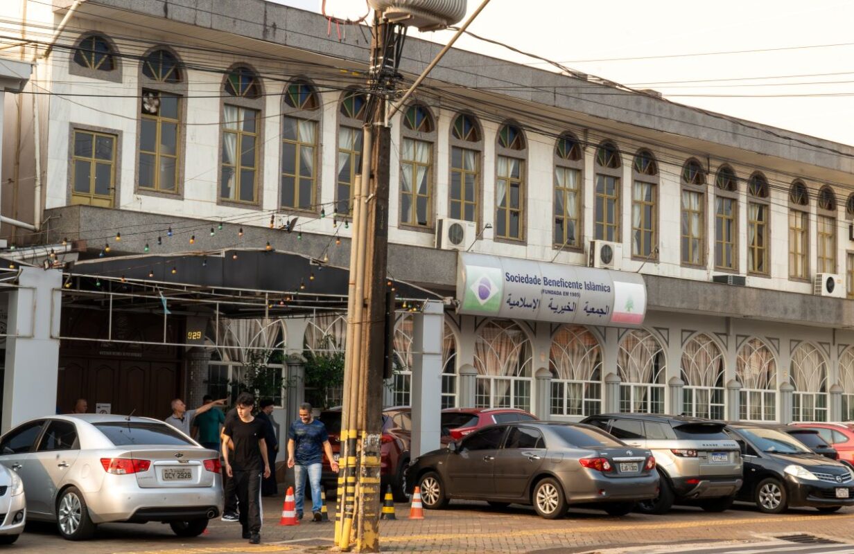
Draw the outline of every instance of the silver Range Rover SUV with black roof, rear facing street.
<instances>
[{"instance_id":1,"label":"silver Range Rover SUV with black roof, rear facing street","mask_svg":"<svg viewBox=\"0 0 854 554\"><path fill-rule=\"evenodd\" d=\"M658 498L638 504L648 514L664 514L673 504L727 510L743 480L738 443L724 423L697 417L657 414L599 414L582 421L613 434L629 446L648 448L661 475Z\"/></svg>"}]
</instances>

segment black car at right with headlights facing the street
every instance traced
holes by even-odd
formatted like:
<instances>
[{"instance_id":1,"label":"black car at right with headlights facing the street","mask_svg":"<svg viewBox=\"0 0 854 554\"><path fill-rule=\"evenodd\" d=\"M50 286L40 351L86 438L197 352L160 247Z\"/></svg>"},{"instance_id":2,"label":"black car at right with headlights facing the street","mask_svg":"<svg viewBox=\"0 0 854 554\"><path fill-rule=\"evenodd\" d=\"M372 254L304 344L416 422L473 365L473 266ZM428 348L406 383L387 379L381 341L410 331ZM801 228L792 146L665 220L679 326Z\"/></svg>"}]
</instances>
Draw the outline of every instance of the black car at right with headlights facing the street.
<instances>
[{"instance_id":1,"label":"black car at right with headlights facing the street","mask_svg":"<svg viewBox=\"0 0 854 554\"><path fill-rule=\"evenodd\" d=\"M728 423L727 432L744 459L745 482L736 499L755 502L768 514L787 507L832 512L854 505L854 472L777 427Z\"/></svg>"}]
</instances>

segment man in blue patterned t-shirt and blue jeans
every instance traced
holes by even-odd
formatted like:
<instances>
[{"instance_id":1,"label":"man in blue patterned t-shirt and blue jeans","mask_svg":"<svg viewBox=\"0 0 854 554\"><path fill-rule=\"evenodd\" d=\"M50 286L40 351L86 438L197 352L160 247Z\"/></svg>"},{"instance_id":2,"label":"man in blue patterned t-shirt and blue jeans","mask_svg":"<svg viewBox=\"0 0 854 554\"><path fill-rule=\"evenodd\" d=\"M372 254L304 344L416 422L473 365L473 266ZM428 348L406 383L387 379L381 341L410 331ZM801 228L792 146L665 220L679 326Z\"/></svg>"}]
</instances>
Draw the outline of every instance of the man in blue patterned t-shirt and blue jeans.
<instances>
[{"instance_id":1,"label":"man in blue patterned t-shirt and blue jeans","mask_svg":"<svg viewBox=\"0 0 854 554\"><path fill-rule=\"evenodd\" d=\"M320 510L320 475L323 473L323 454L330 460L332 471L338 471L338 463L332 458L332 446L326 426L312 417L312 405L300 405L300 419L288 429L288 467L294 468L296 484L296 516L302 519L302 508L306 499L306 478L312 487L313 521L322 521Z\"/></svg>"}]
</instances>

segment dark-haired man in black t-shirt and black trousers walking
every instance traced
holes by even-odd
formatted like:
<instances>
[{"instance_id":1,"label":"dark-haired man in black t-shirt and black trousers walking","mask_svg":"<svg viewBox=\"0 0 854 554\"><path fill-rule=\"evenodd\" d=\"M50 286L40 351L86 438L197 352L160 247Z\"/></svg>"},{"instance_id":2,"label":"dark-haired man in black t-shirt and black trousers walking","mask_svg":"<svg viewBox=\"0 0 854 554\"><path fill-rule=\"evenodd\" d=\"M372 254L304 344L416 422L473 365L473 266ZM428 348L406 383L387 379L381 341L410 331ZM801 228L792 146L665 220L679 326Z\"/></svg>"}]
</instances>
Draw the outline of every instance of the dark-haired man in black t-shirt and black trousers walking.
<instances>
[{"instance_id":1,"label":"dark-haired man in black t-shirt and black trousers walking","mask_svg":"<svg viewBox=\"0 0 854 554\"><path fill-rule=\"evenodd\" d=\"M270 463L266 455L264 423L252 416L254 405L252 394L241 393L237 397L237 419L225 422L222 433L222 456L225 474L234 480L237 489L243 539L257 545L261 530L261 475L270 476ZM229 442L234 447L233 452Z\"/></svg>"}]
</instances>

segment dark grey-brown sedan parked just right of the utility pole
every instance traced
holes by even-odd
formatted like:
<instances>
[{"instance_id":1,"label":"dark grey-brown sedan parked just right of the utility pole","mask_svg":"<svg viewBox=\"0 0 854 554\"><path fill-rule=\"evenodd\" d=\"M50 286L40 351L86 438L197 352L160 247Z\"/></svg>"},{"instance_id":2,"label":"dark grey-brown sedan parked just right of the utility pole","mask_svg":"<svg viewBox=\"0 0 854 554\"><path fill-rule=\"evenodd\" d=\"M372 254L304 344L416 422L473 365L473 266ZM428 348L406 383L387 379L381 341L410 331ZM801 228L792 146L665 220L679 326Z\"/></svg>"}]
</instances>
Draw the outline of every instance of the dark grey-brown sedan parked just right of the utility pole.
<instances>
[{"instance_id":1,"label":"dark grey-brown sedan parked just right of the utility pole","mask_svg":"<svg viewBox=\"0 0 854 554\"><path fill-rule=\"evenodd\" d=\"M548 519L564 516L570 504L623 516L658 494L651 451L581 423L485 427L416 459L407 482L420 487L425 508L443 508L451 499L534 504Z\"/></svg>"}]
</instances>

